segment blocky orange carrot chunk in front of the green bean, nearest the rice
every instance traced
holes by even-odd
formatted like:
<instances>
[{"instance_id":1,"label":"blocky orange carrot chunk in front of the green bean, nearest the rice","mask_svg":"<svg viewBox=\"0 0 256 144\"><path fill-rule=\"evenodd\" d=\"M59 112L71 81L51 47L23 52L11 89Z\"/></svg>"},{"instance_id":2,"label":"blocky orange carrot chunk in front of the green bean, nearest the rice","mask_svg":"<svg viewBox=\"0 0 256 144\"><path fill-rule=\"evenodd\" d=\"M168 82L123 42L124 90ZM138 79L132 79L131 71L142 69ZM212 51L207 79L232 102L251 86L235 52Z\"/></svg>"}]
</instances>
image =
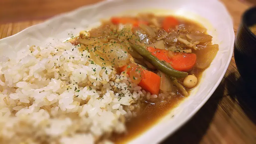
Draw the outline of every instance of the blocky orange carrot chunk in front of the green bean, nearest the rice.
<instances>
[{"instance_id":1,"label":"blocky orange carrot chunk in front of the green bean, nearest the rice","mask_svg":"<svg viewBox=\"0 0 256 144\"><path fill-rule=\"evenodd\" d=\"M144 76L141 79L141 82L138 84L143 90L149 91L151 94L159 94L160 90L160 80L159 75L148 71L143 70Z\"/></svg>"}]
</instances>

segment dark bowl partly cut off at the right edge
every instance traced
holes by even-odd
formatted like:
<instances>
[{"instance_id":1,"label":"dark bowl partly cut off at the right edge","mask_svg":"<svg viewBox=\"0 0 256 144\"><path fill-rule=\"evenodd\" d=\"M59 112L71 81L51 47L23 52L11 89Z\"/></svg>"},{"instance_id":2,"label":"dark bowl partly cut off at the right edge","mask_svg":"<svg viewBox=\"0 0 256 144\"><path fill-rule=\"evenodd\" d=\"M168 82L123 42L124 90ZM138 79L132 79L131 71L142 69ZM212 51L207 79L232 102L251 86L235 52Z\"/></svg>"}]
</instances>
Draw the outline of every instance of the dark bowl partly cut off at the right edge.
<instances>
[{"instance_id":1,"label":"dark bowl partly cut off at the right edge","mask_svg":"<svg viewBox=\"0 0 256 144\"><path fill-rule=\"evenodd\" d=\"M256 7L247 10L241 19L234 45L237 69L250 86L256 86L256 35L249 27L256 24Z\"/></svg>"}]
</instances>

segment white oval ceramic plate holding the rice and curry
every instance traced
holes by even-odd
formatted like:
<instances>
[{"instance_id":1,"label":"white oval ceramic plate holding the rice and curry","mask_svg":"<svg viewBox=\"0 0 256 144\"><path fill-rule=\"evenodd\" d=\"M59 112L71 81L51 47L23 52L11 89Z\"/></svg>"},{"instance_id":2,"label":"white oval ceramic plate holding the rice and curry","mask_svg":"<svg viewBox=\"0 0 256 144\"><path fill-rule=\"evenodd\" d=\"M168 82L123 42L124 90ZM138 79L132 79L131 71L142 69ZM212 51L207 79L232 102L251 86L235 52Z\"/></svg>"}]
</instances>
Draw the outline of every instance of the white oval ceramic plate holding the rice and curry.
<instances>
[{"instance_id":1,"label":"white oval ceramic plate holding the rice and curry","mask_svg":"<svg viewBox=\"0 0 256 144\"><path fill-rule=\"evenodd\" d=\"M209 99L229 66L234 47L233 22L225 6L217 0L116 0L81 7L31 26L18 34L0 40L0 56L17 57L17 50L27 46L46 46L61 42L70 34L98 26L99 19L113 15L135 15L138 12L179 15L201 23L219 44L219 51L210 67L204 71L200 84L177 108L156 125L129 143L158 143L187 122ZM175 117L171 118L172 115Z\"/></svg>"}]
</instances>

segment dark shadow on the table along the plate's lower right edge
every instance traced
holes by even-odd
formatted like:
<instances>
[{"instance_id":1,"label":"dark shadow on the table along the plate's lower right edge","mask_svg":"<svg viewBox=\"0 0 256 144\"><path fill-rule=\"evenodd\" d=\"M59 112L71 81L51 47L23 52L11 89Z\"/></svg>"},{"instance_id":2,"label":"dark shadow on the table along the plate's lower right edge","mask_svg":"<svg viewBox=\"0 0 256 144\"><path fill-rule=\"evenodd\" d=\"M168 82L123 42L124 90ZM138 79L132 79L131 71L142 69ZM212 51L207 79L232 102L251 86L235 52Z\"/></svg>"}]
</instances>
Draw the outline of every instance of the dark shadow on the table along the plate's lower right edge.
<instances>
[{"instance_id":1,"label":"dark shadow on the table along the plate's lower right edge","mask_svg":"<svg viewBox=\"0 0 256 144\"><path fill-rule=\"evenodd\" d=\"M210 99L205 105L194 115L194 117L182 126L173 135L165 139L161 144L169 143L199 143L203 135L206 133L209 124L218 107L219 101L222 99L225 88L225 81L223 81L215 90Z\"/></svg>"}]
</instances>

